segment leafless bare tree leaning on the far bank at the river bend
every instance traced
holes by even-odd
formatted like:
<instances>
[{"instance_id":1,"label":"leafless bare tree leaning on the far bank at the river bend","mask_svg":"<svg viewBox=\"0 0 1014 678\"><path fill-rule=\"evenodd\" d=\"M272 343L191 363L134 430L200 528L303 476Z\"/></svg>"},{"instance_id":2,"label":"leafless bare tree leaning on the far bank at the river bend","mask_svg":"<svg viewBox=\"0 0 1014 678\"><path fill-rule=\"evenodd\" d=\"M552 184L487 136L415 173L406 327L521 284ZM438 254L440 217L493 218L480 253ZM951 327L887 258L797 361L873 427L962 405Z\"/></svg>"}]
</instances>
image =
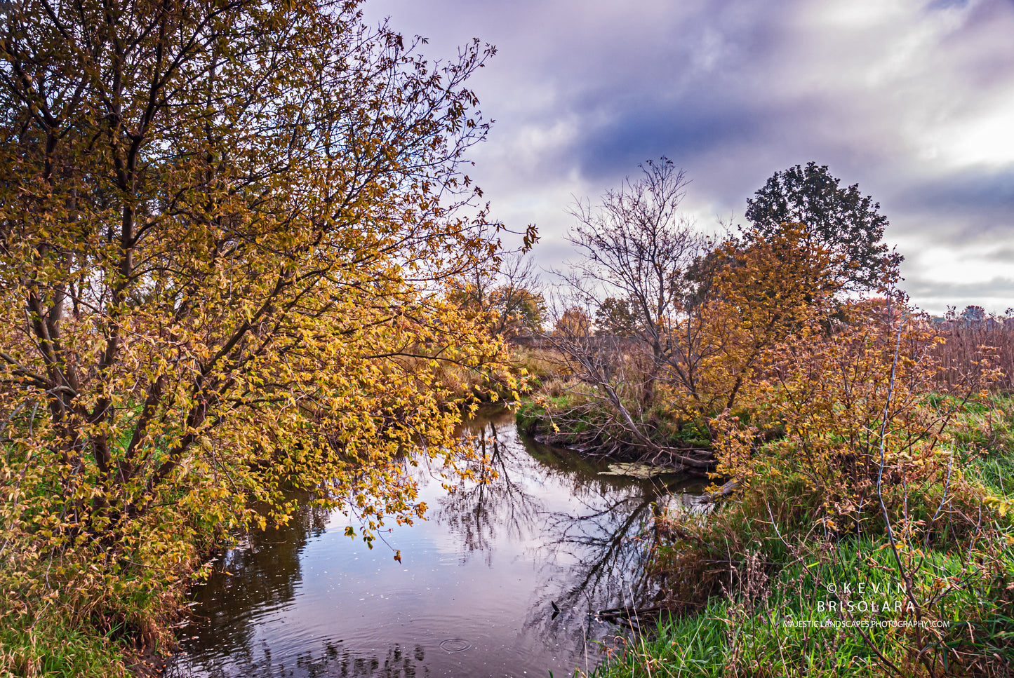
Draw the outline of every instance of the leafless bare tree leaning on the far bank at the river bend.
<instances>
[{"instance_id":1,"label":"leafless bare tree leaning on the far bank at the river bend","mask_svg":"<svg viewBox=\"0 0 1014 678\"><path fill-rule=\"evenodd\" d=\"M700 470L710 467L707 455L658 444L644 410L655 399L659 379L696 392L701 295L692 272L707 240L679 211L689 183L683 171L664 157L641 169L639 178L626 179L597 205L586 201L573 207L578 223L568 240L580 258L558 272L585 307L613 315L624 309L629 316L624 335L589 327L556 332L552 341L573 372L607 402L612 423L626 430L630 444L656 460L665 453L663 460Z\"/></svg>"}]
</instances>

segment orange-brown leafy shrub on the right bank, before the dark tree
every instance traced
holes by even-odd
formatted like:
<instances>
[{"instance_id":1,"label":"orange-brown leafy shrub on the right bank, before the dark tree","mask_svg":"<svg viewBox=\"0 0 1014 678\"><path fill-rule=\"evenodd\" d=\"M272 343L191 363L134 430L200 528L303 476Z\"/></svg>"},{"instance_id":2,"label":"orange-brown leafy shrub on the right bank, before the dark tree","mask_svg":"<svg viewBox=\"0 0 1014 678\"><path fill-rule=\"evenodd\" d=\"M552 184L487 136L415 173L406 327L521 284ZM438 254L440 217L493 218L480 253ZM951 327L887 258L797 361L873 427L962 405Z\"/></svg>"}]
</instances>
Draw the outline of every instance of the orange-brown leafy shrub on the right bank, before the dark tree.
<instances>
[{"instance_id":1,"label":"orange-brown leafy shrub on the right bank, before the dark tree","mask_svg":"<svg viewBox=\"0 0 1014 678\"><path fill-rule=\"evenodd\" d=\"M928 394L940 365L932 349L942 340L932 329L903 306L873 301L844 315L830 332L808 323L767 353L751 425L717 422L718 472L747 494L754 480L765 493L791 476L821 507L825 529L880 531L887 511L903 534L932 522L934 501L942 510L955 495L971 496L947 424L985 382L934 404Z\"/></svg>"}]
</instances>

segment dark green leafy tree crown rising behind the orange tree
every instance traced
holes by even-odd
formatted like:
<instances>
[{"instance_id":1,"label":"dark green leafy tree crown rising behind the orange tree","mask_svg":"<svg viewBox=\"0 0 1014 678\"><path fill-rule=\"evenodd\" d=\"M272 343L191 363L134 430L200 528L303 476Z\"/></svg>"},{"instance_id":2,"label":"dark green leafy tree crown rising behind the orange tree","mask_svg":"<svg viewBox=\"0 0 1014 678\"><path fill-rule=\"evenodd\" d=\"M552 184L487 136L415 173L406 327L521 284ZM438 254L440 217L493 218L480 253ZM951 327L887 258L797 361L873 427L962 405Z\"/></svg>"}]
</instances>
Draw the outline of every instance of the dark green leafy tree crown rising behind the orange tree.
<instances>
[{"instance_id":1,"label":"dark green leafy tree crown rising behind the orange tree","mask_svg":"<svg viewBox=\"0 0 1014 678\"><path fill-rule=\"evenodd\" d=\"M883 242L887 217L880 204L859 193L859 184L839 185L826 165L808 162L775 172L746 201L752 226L747 237L770 239L783 224L804 224L808 246L819 245L840 255L847 288L877 290L896 280L901 255Z\"/></svg>"}]
</instances>

